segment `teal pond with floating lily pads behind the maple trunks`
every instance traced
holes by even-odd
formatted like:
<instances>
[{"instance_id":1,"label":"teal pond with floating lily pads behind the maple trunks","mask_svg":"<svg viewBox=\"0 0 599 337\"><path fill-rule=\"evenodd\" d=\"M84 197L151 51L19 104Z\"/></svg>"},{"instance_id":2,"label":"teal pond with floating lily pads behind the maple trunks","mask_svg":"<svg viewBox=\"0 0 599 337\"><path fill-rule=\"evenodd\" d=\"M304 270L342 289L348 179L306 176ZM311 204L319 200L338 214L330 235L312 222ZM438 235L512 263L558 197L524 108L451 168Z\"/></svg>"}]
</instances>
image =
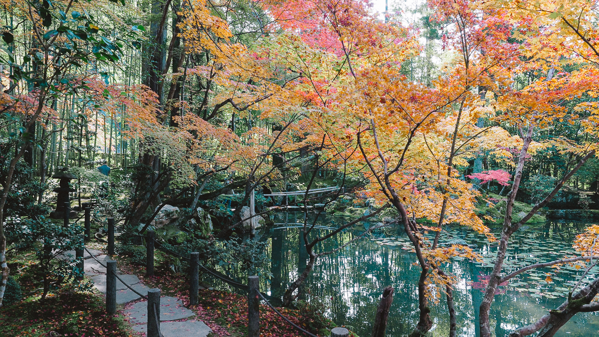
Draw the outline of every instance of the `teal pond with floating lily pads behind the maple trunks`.
<instances>
[{"instance_id":1,"label":"teal pond with floating lily pads behind the maple trunks","mask_svg":"<svg viewBox=\"0 0 599 337\"><path fill-rule=\"evenodd\" d=\"M308 215L310 218L310 215ZM317 222L322 226L311 235L327 233L329 227L343 223L343 219L325 218ZM299 226L304 213L277 213L274 228L265 229L259 235L270 243L271 272L273 279L270 294L280 296L286 285L294 281L298 268L305 266L305 249L299 249ZM334 240L323 242L316 247L317 252L338 248L364 231L362 224L352 228ZM506 270L543 261L556 260L574 251L571 244L589 224L581 222L546 222L522 228L513 235L509 248ZM498 233L498 229L494 230ZM428 236L432 237L433 233ZM478 314L487 276L491 272L492 261L497 245L488 243L484 236L473 233L465 227L444 227L441 244L468 243L483 256L481 263L455 258L445 267L446 272L456 277L454 300L458 315L458 336L479 336ZM326 315L337 325L349 327L361 337L371 334L374 312L380 300L382 289L391 285L395 289L394 301L389 313L387 336L406 336L418 321L418 282L420 268L415 265L415 254L403 228L389 227L377 231L371 237L361 239L333 254L317 260L313 273L304 285L305 298L322 303ZM581 282L584 286L599 273L595 267ZM577 281L582 269L562 267L559 272L552 268L530 270L512 279L495 296L491 309L491 326L495 336L507 336L510 330L533 323L547 312L558 307L567 296L568 290ZM549 278L547 278L549 276ZM434 327L429 336L447 336L449 315L442 296L432 305L431 317ZM556 336L597 336L599 335L599 315L595 313L577 314Z\"/></svg>"}]
</instances>

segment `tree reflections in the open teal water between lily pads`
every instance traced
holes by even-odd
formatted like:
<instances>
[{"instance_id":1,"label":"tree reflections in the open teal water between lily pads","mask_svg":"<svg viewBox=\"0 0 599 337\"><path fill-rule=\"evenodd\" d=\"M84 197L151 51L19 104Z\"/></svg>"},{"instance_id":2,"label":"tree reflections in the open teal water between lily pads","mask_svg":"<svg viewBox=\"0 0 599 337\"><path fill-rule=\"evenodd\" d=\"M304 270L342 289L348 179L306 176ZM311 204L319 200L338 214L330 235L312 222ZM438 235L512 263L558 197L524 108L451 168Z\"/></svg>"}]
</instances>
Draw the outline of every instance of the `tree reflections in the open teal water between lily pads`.
<instances>
[{"instance_id":1,"label":"tree reflections in the open teal water between lily pads","mask_svg":"<svg viewBox=\"0 0 599 337\"><path fill-rule=\"evenodd\" d=\"M289 213L291 214L291 213ZM296 215L297 216L297 215ZM301 213L298 219L302 219ZM289 221L295 222L295 221ZM334 224L327 219L323 224ZM547 222L530 228L534 240L559 240L570 246L574 236L580 233L584 224L573 222ZM340 234L334 239L316 246L316 252L330 251L361 234L359 228ZM271 279L270 290L273 296L280 296L286 285L298 275L298 267L305 265L304 257L299 256L301 244L299 228L289 230L271 230ZM316 230L311 235L322 234ZM383 236L383 233L379 233ZM459 232L469 242L477 242L474 234L468 231ZM526 236L518 238L525 243ZM479 248L492 245L479 242ZM303 260L303 261L302 261ZM351 326L360 336L370 335L374 313L382 290L387 285L395 288L394 302L389 314L388 336L404 336L411 332L418 323L418 291L416 284L419 277L419 266L413 264L415 257L411 252L400 248L380 246L371 240L359 240L343 250L324 255L317 260L313 273L305 282L304 291L310 302L320 302L328 308L328 314L339 325ZM473 288L473 282L479 282L479 275L489 273L487 268L470 261L453 261L446 268L458 276L454 296L458 313L458 336L478 336L478 314L483 294ZM495 327L496 336L506 336L514 327L530 324L546 312L545 308L556 308L562 299L534 299L527 293L507 291L495 297L491 311L491 324ZM544 307L544 308L543 308ZM435 318L431 336L447 336L449 332L449 314L446 311L444 297L437 305L432 306L432 317ZM595 314L579 314L564 329L562 336L587 336L589 332L597 333L599 320ZM567 335L565 332L570 332ZM557 336L557 335L556 335Z\"/></svg>"}]
</instances>

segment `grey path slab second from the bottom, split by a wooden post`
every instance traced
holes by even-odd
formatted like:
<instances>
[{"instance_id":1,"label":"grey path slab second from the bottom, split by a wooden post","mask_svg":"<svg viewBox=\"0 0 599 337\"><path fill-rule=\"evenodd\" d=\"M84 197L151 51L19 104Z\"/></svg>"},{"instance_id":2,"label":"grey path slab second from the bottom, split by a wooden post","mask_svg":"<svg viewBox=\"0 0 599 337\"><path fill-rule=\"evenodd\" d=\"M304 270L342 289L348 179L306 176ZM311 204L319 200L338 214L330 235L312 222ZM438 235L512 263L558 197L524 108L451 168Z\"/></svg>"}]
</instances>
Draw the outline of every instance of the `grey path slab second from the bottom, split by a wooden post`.
<instances>
[{"instance_id":1,"label":"grey path slab second from the bottom, split by a wooden post","mask_svg":"<svg viewBox=\"0 0 599 337\"><path fill-rule=\"evenodd\" d=\"M118 296L118 295L117 295ZM131 324L147 323L147 301L135 303L131 308L125 310L125 315ZM164 296L160 299L160 320L174 321L195 316L193 311L185 308L183 302L175 297ZM166 335L165 335L166 336Z\"/></svg>"}]
</instances>

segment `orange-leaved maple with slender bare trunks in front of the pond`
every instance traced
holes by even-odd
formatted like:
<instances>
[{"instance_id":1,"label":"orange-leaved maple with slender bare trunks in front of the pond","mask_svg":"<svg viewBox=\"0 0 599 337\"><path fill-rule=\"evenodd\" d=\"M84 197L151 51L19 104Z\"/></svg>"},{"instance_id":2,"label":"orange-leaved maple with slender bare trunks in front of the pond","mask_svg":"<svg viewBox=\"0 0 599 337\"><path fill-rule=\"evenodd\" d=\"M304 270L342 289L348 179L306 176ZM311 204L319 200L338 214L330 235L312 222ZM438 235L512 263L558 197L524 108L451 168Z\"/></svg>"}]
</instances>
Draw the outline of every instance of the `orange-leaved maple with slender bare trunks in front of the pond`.
<instances>
[{"instance_id":1,"label":"orange-leaved maple with slender bare trunks in front of the pond","mask_svg":"<svg viewBox=\"0 0 599 337\"><path fill-rule=\"evenodd\" d=\"M468 144L473 152L494 149L498 157L510 160L513 155L504 149L506 142L512 143L515 148L522 148L516 165L516 174L512 192L509 194L508 210L504 222L505 228L509 228L509 230L507 230L507 237L502 234L500 239L500 257L498 258L500 261L501 251L504 251L509 233L519 228L539 207L546 204L563 182L594 155L592 148L582 150L585 149L585 146L580 146L580 151L584 151L580 163L573 170L567 172L564 180L556 186L555 191L540 203L541 206L536 205L524 219L518 224L512 225L511 210L521 179L522 164L528 154L544 147L544 145L532 141L531 135L534 127L543 128L550 121L563 119L565 112L560 105L561 101L578 95L580 92L589 91L591 88L588 86L581 88L580 81L576 81L576 85L574 85L574 81L570 78L561 77L560 81L550 82L549 87L547 87L546 79L542 79L522 90L512 89L509 77L521 71L516 69L518 64L524 63L519 67L528 67L528 69L549 68L547 64L551 64L550 60L558 62L559 55L554 53L555 48L540 45L538 48L543 53L528 62L522 62L521 56L531 56L531 53L527 49L522 52L518 43L506 42L512 34L506 27L513 22L506 19L504 11L488 6L485 7L488 13L485 12L485 16L481 18L474 14L474 8L479 5L476 2L443 1L434 2L432 6L438 9L436 12L438 20L453 23L448 30L452 30L452 34L449 36L455 38L447 38L446 35L444 41L447 45L453 44L455 50L461 51L461 59L454 61L452 67L455 68L447 70L446 76L433 83L433 88L426 88L418 83L409 83L399 71L394 71L390 66L390 64L394 64L393 61L397 63L401 63L401 61L398 62L395 58L391 59L383 44L378 43L377 46L376 34L368 35L372 39L368 43L364 43L361 40L362 36L356 34L356 31L362 31L361 24L367 22L368 16L364 12L359 13L359 10L356 10L359 5L352 3L351 9L344 7L347 5L344 2L332 4L323 1L310 2L304 7L304 9L308 8L310 14L313 14L312 17L320 17L314 22L318 22L320 26L326 25L338 36L338 41L328 42L325 46L320 46L313 40L305 38L302 40L310 47L325 50L331 49L331 46L334 45L338 46L331 50L332 55L329 56L329 60L340 62L338 59L342 59L346 63L346 68L344 70L341 68L338 73L333 75L334 82L330 78L326 78L326 72L322 72L322 63L313 65L313 62L322 60L322 56L319 59L307 58L309 60L307 62L302 58L301 63L292 64L302 73L310 74L310 85L314 92L311 102L323 110L323 113L314 114L313 119L319 122L322 120L323 123L328 122L327 127L343 135L340 137L355 137L362 154L359 161L365 160L371 170L373 195L380 201L391 201L401 213L406 233L415 246L416 255L422 266L419 281L420 321L413 333L414 336L417 336L425 333L432 325L432 321L428 317L429 309L426 300L427 282L429 282L430 275L433 274L432 270L437 273L441 272L437 275L445 276L445 278L439 277L437 281L448 285L448 305L452 306L452 303L449 278L443 275L442 271L432 262L436 256L444 256L447 253L436 248L436 239L431 246L428 246L420 237L419 225L413 219L432 219L438 222L439 228L444 221L457 222L470 225L481 233L488 233L488 228L483 226L476 216L468 213L474 209L476 193L470 190L469 184L459 179L459 175L453 173L455 165L453 161L455 160L456 164L459 164L460 161L464 163L464 160L467 160L468 156L471 158L472 154L468 154L467 151L456 151L456 148L461 150ZM286 14L289 7L282 7L285 8L285 11L282 11L281 15L286 15L284 16L286 22L282 25L295 25L294 20L289 20L289 16ZM301 11L300 15L304 17L305 11ZM523 23L520 21L518 24L522 25ZM309 32L310 26L313 25L314 23L308 23L304 27L295 27ZM373 26L376 25L369 25L369 28L373 29ZM388 32L379 33L383 35ZM393 56L397 57L401 52L415 52L409 49L409 44L404 43L403 46L406 46L406 49L399 50L396 47ZM377 49L377 47L379 48ZM304 47L305 49L307 47ZM305 57L306 53L302 55ZM337 56L336 59L335 56ZM380 62L380 60L385 60L385 62ZM320 72L317 72L318 70ZM577 73L576 76L580 76L580 73ZM323 83L326 83L326 86L323 86ZM483 95L474 95L471 92L473 88L477 87L484 88ZM541 92L543 92L542 95ZM496 115L496 112L502 113ZM475 124L477 119L485 113L493 121L500 123L509 121L512 125L527 125L528 133L525 134L524 131L521 131L521 139L519 139L509 136L500 128L480 130ZM338 116L343 116L341 125L338 125ZM467 122L461 121L462 118ZM591 116L587 121L592 124L593 120L594 117ZM462 125L461 122L467 126ZM585 131L595 133L596 131L588 124L589 122L583 122L588 125ZM452 128L452 124L455 127ZM453 134L448 129L453 129ZM445 143L440 138L441 136L446 137ZM477 143L477 139L482 141ZM391 151L391 149L403 149L403 151L397 152ZM423 149L428 149L428 154ZM359 161L356 161L356 165L359 164ZM494 175L503 184L507 184L509 181L509 173L504 171L475 173L471 177L488 179ZM452 200L448 209L449 198L447 195L449 194L456 195L458 200ZM437 237L439 233L440 230L437 232ZM504 232L504 234L506 233ZM501 263L498 262L496 267L500 265ZM494 269L494 275L500 270L501 268ZM492 275L491 282L486 288L485 300L481 307L482 328L485 319L488 321L487 305L490 304L488 300L495 294L498 285L494 277ZM451 313L452 309L450 309ZM485 332L485 329L482 331ZM455 325L452 325L450 333L455 334Z\"/></svg>"}]
</instances>

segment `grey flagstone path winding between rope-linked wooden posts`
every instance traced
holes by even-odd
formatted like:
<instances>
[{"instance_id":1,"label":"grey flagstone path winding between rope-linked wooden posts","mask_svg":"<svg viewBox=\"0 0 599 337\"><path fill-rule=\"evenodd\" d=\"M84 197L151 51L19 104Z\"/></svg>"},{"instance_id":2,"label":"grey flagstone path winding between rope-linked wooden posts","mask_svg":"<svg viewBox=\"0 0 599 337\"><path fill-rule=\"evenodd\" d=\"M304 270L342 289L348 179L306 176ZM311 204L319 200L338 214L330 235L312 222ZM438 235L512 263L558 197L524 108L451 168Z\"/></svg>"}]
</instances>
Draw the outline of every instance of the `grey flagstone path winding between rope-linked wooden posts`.
<instances>
[{"instance_id":1,"label":"grey flagstone path winding between rope-linked wooden posts","mask_svg":"<svg viewBox=\"0 0 599 337\"><path fill-rule=\"evenodd\" d=\"M110 260L110 257L102 251L89 249L95 258L105 264L105 261ZM75 251L68 251L63 255L64 258L74 258ZM83 270L86 276L90 276L93 281L93 286L102 293L106 293L106 268L102 267L92 256L84 251ZM141 294L147 295L149 290L136 275L122 275L117 269L119 277ZM116 302L118 305L140 300L141 297L135 294L132 290L126 287L125 284L117 279ZM133 329L138 332L146 332L147 329L147 301L141 300L131 306L127 306L123 313L128 318ZM164 337L206 337L212 332L204 322L196 320L193 311L185 308L181 300L162 296L160 300L160 330Z\"/></svg>"}]
</instances>

